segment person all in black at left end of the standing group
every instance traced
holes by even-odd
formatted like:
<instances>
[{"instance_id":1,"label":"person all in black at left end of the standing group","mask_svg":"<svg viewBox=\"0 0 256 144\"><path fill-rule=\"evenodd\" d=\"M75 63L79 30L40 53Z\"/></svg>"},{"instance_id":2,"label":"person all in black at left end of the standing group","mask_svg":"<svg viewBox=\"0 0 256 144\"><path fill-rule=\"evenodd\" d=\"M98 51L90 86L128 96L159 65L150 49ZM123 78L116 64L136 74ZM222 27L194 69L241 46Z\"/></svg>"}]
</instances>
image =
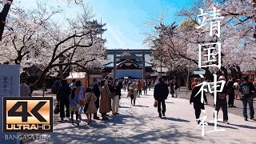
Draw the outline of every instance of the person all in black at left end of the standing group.
<instances>
[{"instance_id":1,"label":"person all in black at left end of the standing group","mask_svg":"<svg viewBox=\"0 0 256 144\"><path fill-rule=\"evenodd\" d=\"M66 80L62 80L62 86L59 86L57 93L57 100L60 104L60 117L64 121L65 118L65 107L66 107L66 118L70 118L70 86Z\"/></svg>"}]
</instances>

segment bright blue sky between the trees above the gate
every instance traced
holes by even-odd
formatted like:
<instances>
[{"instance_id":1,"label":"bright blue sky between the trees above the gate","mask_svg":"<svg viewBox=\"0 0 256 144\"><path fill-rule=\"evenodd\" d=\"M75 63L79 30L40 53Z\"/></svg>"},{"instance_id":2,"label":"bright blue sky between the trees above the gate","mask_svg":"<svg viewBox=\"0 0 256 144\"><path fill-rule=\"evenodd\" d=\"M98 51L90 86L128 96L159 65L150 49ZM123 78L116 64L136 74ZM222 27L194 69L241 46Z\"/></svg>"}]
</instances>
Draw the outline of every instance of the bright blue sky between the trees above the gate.
<instances>
[{"instance_id":1,"label":"bright blue sky between the trees above the gate","mask_svg":"<svg viewBox=\"0 0 256 144\"><path fill-rule=\"evenodd\" d=\"M54 5L60 5L59 1L67 0L49 0ZM180 22L181 19L175 16L175 13L188 5L188 0L85 0L94 10L95 18L102 23L106 22L106 32L103 38L106 38L107 49L149 49L142 45L146 38L142 33L150 32L144 22L150 19L157 19L162 14L162 7L166 13L166 24L171 22ZM35 0L22 0L21 5L25 8L34 7ZM72 15L79 10L78 6L69 7ZM64 14L65 15L65 14Z\"/></svg>"}]
</instances>

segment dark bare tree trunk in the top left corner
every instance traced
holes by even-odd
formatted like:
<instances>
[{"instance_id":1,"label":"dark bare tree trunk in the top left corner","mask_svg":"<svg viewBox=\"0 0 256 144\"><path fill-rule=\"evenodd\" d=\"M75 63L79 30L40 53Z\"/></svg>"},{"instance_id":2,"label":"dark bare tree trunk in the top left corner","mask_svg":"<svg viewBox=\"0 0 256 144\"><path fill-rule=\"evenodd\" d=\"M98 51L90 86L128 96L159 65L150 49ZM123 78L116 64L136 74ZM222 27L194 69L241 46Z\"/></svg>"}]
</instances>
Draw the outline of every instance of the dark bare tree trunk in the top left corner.
<instances>
[{"instance_id":1,"label":"dark bare tree trunk in the top left corner","mask_svg":"<svg viewBox=\"0 0 256 144\"><path fill-rule=\"evenodd\" d=\"M0 41L2 40L3 30L5 29L6 26L6 17L9 13L10 5L13 2L13 0L8 0L8 2L3 6L2 12L0 13Z\"/></svg>"}]
</instances>

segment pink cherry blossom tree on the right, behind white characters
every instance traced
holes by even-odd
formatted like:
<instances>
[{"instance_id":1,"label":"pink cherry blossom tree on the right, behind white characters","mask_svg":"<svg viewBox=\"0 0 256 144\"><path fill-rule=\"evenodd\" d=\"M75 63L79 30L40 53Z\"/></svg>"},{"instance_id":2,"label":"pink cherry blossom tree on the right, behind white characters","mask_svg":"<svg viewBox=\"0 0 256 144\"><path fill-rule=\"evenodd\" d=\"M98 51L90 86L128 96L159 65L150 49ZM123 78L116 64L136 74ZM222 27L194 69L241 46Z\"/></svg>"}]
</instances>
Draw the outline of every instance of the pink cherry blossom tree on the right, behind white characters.
<instances>
[{"instance_id":1,"label":"pink cherry blossom tree on the right, behind white characters","mask_svg":"<svg viewBox=\"0 0 256 144\"><path fill-rule=\"evenodd\" d=\"M220 38L210 37L208 26L199 30L194 28L199 25L197 15L200 10L198 8L210 11L213 7L221 10L222 16L225 17L221 20ZM162 26L161 21L154 26L159 29L156 29L154 34L148 34L146 42L160 47L165 52L162 56L169 59L170 63L183 64L183 62L190 61L192 66L198 65L198 44L221 42L221 70L226 77L230 70L232 76L241 78L243 70L254 70L255 67L253 7L250 0L195 1L190 8L185 7L178 12L178 16L187 20L183 21L177 29L166 32L166 36L162 37L162 32L166 31L168 25ZM155 40L160 42L156 43ZM218 71L218 69L206 68L206 73L208 73L206 75L210 76L211 73L218 73Z\"/></svg>"}]
</instances>

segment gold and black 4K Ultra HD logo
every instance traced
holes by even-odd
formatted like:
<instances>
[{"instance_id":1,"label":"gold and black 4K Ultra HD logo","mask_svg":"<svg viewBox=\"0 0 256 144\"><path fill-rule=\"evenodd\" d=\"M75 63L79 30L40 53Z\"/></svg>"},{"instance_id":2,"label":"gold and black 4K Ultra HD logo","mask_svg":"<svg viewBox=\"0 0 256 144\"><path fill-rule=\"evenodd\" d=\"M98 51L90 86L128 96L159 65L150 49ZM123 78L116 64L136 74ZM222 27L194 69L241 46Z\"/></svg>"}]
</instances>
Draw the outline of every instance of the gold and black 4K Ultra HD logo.
<instances>
[{"instance_id":1,"label":"gold and black 4K Ultra HD logo","mask_svg":"<svg viewBox=\"0 0 256 144\"><path fill-rule=\"evenodd\" d=\"M3 98L3 132L53 132L53 98Z\"/></svg>"}]
</instances>

